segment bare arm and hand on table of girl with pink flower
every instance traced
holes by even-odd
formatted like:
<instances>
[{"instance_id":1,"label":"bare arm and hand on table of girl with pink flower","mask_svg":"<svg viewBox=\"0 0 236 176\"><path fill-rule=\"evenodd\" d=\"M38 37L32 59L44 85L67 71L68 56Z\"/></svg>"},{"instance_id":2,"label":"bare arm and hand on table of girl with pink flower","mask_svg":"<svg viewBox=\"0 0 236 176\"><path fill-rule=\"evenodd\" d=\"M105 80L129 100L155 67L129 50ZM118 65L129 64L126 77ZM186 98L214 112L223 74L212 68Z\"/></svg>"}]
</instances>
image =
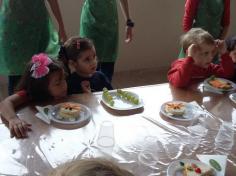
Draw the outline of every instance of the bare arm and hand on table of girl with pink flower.
<instances>
[{"instance_id":1,"label":"bare arm and hand on table of girl with pink flower","mask_svg":"<svg viewBox=\"0 0 236 176\"><path fill-rule=\"evenodd\" d=\"M11 137L25 138L27 132L31 131L30 124L18 118L15 113L15 108L27 102L27 97L22 97L17 94L7 97L0 103L0 112L3 120L8 124Z\"/></svg>"}]
</instances>

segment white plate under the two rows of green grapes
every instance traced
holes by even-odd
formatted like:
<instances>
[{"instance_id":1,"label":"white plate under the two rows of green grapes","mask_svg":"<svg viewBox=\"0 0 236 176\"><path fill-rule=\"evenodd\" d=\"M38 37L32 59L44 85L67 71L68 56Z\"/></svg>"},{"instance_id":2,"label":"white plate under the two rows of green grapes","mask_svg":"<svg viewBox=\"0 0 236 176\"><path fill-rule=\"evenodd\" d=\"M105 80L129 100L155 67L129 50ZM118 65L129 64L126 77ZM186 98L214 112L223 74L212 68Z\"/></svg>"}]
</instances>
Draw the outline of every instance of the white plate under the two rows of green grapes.
<instances>
[{"instance_id":1,"label":"white plate under the two rows of green grapes","mask_svg":"<svg viewBox=\"0 0 236 176\"><path fill-rule=\"evenodd\" d=\"M130 95L137 98L139 100L139 103L138 104L133 104L133 103L129 102L128 100L120 98L117 95L116 90L109 91L109 94L112 96L112 98L114 100L114 105L113 106L111 106L103 96L102 96L101 101L106 106L108 106L109 108L114 109L114 110L132 110L132 109L138 109L138 108L143 107L143 101L136 93L130 92L130 91L125 91L125 92L128 92Z\"/></svg>"}]
</instances>

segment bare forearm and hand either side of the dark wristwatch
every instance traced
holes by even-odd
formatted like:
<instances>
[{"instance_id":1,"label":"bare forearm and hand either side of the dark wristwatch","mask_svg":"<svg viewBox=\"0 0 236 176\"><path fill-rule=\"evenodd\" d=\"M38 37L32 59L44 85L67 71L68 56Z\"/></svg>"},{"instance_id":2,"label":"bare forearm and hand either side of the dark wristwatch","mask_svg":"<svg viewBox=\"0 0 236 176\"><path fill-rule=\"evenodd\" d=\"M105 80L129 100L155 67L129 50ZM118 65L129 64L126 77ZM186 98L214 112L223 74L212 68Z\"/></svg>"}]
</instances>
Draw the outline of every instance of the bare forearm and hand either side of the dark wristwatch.
<instances>
[{"instance_id":1,"label":"bare forearm and hand either side of the dark wristwatch","mask_svg":"<svg viewBox=\"0 0 236 176\"><path fill-rule=\"evenodd\" d=\"M123 12L124 12L125 20L127 21L127 20L130 19L128 0L120 0L120 4L121 4L121 7L122 7ZM133 27L126 26L126 39L125 39L125 42L127 42L127 43L131 42L132 38L133 38Z\"/></svg>"}]
</instances>

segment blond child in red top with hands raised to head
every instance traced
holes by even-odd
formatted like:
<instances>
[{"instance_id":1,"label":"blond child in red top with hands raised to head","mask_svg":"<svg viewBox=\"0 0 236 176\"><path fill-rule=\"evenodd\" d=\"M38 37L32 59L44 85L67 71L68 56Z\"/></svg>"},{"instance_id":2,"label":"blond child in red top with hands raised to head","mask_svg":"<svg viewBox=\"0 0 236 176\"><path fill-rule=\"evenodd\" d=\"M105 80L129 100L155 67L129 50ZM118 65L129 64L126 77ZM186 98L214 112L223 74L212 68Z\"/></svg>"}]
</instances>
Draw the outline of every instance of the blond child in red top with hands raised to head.
<instances>
[{"instance_id":1,"label":"blond child in red top with hands raised to head","mask_svg":"<svg viewBox=\"0 0 236 176\"><path fill-rule=\"evenodd\" d=\"M224 78L233 76L233 62L224 41L214 41L214 38L201 28L192 28L181 40L187 56L174 61L168 71L168 80L173 86L188 87L192 81L211 75ZM220 65L211 63L216 52L221 55Z\"/></svg>"}]
</instances>

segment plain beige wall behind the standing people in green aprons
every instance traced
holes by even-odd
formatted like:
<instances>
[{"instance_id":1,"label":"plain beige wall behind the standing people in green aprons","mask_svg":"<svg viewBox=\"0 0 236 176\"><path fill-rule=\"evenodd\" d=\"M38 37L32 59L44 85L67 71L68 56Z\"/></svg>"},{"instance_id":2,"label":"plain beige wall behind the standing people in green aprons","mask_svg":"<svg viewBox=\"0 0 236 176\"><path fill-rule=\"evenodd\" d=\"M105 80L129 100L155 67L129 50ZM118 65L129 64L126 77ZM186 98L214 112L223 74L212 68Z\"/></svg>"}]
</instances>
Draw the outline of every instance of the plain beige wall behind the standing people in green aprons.
<instances>
[{"instance_id":1,"label":"plain beige wall behind the standing people in green aprons","mask_svg":"<svg viewBox=\"0 0 236 176\"><path fill-rule=\"evenodd\" d=\"M82 0L59 0L68 36L79 32ZM116 71L166 68L176 58L185 0L129 0L135 21L134 40L124 43L124 18L120 17L120 52ZM234 7L234 8L233 8ZM236 34L236 1L231 0L231 28Z\"/></svg>"}]
</instances>

